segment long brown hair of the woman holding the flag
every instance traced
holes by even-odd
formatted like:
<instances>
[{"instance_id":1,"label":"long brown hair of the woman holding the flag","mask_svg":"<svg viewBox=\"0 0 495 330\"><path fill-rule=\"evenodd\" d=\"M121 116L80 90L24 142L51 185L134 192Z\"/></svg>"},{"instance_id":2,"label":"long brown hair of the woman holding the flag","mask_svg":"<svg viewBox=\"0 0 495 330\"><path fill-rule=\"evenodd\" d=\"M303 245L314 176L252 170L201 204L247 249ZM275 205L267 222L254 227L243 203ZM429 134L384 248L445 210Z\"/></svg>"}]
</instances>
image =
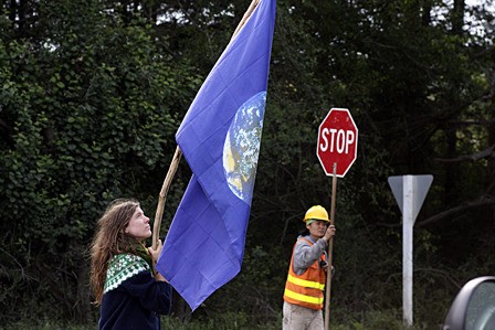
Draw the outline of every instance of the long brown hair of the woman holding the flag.
<instances>
[{"instance_id":1,"label":"long brown hair of the woman holding the flag","mask_svg":"<svg viewBox=\"0 0 495 330\"><path fill-rule=\"evenodd\" d=\"M95 295L94 304L99 305L106 280L109 260L122 253L136 254L143 243L125 233L129 221L139 206L133 199L113 201L98 220L97 230L91 245L91 286Z\"/></svg>"}]
</instances>

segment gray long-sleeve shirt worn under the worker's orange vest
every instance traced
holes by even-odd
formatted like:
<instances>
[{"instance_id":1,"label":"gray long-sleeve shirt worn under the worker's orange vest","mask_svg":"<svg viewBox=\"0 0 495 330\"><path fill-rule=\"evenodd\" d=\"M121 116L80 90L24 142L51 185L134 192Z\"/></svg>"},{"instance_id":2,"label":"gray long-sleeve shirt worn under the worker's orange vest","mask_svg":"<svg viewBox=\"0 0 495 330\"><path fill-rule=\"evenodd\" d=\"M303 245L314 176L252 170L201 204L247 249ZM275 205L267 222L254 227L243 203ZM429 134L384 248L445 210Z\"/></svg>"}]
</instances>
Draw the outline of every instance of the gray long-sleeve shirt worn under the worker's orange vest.
<instances>
[{"instance_id":1,"label":"gray long-sleeve shirt worn under the worker's orange vest","mask_svg":"<svg viewBox=\"0 0 495 330\"><path fill-rule=\"evenodd\" d=\"M313 246L301 238L306 238L313 242ZM294 249L294 273L301 275L306 272L310 265L319 259L322 254L326 255L326 247L327 243L323 238L316 241L312 235L299 236Z\"/></svg>"}]
</instances>

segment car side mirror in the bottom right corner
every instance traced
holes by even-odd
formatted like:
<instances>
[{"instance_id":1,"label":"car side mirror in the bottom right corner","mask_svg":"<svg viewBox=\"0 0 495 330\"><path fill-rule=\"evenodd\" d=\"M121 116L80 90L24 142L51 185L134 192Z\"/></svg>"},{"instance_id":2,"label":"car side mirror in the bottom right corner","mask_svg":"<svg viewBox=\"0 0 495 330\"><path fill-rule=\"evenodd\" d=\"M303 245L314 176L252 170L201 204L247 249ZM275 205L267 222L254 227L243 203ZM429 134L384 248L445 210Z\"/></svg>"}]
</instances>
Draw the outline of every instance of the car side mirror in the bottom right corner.
<instances>
[{"instance_id":1,"label":"car side mirror in the bottom right corner","mask_svg":"<svg viewBox=\"0 0 495 330\"><path fill-rule=\"evenodd\" d=\"M443 330L495 330L495 276L477 277L462 287Z\"/></svg>"}]
</instances>

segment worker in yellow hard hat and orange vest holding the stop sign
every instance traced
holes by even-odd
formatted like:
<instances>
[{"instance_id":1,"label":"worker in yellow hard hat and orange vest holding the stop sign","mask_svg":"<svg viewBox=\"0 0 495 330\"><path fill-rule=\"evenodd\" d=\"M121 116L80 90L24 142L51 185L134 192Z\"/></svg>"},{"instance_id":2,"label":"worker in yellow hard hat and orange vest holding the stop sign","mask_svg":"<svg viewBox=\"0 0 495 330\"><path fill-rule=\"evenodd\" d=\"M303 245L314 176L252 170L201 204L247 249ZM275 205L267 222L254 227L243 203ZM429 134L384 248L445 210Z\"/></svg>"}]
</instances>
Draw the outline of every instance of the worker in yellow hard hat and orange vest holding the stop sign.
<instances>
[{"instance_id":1,"label":"worker in yellow hard hat and orange vest holding the stop sign","mask_svg":"<svg viewBox=\"0 0 495 330\"><path fill-rule=\"evenodd\" d=\"M283 330L324 329L323 302L327 277L326 249L335 235L328 212L320 205L307 210L306 231L294 245L284 291Z\"/></svg>"}]
</instances>

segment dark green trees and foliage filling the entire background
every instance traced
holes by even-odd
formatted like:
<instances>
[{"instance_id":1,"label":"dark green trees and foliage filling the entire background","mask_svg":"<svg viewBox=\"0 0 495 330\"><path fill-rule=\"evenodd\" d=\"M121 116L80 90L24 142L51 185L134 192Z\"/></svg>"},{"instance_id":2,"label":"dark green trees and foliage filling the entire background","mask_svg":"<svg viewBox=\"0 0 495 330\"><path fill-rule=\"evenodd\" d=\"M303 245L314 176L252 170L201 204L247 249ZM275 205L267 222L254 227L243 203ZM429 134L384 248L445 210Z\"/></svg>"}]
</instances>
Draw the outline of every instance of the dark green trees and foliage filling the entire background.
<instances>
[{"instance_id":1,"label":"dark green trees and foliage filling the entire background","mask_svg":"<svg viewBox=\"0 0 495 330\"><path fill-rule=\"evenodd\" d=\"M4 321L19 308L88 321L94 220L123 195L152 212L175 131L249 3L2 2ZM278 0L243 269L193 315L177 299L185 322L280 323L303 214L330 206L317 128L347 107L359 151L337 184L333 326L400 323L400 211L387 178L424 173L434 182L415 224L414 319L441 323L459 287L495 267L494 35L492 0ZM182 161L165 228L189 174Z\"/></svg>"}]
</instances>

